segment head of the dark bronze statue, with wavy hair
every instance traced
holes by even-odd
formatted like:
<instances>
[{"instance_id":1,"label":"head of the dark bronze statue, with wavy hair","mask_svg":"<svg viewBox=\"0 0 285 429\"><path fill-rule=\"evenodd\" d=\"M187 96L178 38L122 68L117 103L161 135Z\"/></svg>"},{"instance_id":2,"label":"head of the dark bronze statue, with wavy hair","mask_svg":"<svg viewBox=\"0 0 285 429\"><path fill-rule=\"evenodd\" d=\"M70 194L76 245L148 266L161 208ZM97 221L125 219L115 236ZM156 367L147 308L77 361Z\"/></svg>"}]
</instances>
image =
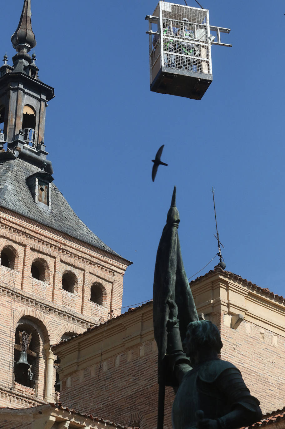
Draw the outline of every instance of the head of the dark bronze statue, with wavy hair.
<instances>
[{"instance_id":1,"label":"head of the dark bronze statue, with wavy hair","mask_svg":"<svg viewBox=\"0 0 285 429\"><path fill-rule=\"evenodd\" d=\"M189 323L183 347L190 359L193 359L198 353L203 353L204 358L207 355L210 358L213 353L220 353L223 343L214 323L209 320L198 320Z\"/></svg>"}]
</instances>

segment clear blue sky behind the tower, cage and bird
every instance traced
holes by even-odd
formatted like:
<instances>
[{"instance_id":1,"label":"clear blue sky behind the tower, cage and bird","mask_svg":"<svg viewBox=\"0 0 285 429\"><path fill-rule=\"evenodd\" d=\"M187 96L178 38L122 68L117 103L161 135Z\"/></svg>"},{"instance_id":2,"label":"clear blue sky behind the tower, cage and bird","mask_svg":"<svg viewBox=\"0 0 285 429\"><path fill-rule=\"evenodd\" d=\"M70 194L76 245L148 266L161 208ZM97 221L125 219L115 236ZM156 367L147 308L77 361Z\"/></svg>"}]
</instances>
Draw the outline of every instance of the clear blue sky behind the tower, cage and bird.
<instances>
[{"instance_id":1,"label":"clear blue sky behind the tower, cage and bird","mask_svg":"<svg viewBox=\"0 0 285 429\"><path fill-rule=\"evenodd\" d=\"M2 5L9 64L22 3ZM85 224L133 262L126 306L152 298L175 184L188 277L218 250L213 186L226 269L285 296L284 2L200 3L211 25L231 28L222 36L233 47L212 46L213 82L197 101L149 90L145 16L156 1L32 0L39 79L56 95L45 127L55 184ZM162 144L169 166L152 183Z\"/></svg>"}]
</instances>

